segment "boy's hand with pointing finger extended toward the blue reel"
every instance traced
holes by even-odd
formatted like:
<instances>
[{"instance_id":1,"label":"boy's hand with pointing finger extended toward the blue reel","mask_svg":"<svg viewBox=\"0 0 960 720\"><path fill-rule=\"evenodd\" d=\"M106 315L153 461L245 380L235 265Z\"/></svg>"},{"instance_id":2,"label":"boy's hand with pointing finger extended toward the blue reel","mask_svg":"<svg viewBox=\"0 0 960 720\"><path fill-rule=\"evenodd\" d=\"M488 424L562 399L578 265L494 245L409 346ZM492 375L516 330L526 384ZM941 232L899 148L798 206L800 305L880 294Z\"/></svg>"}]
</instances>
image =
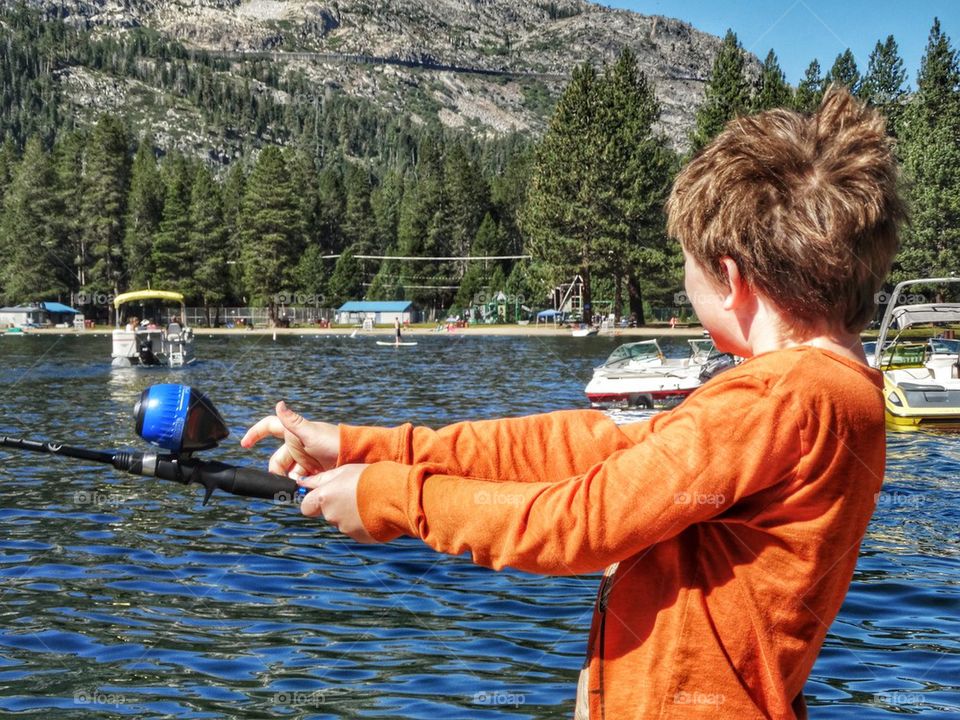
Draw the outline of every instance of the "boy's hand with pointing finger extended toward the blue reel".
<instances>
[{"instance_id":1,"label":"boy's hand with pointing finger extended toward the blue reel","mask_svg":"<svg viewBox=\"0 0 960 720\"><path fill-rule=\"evenodd\" d=\"M272 473L299 478L336 467L340 454L340 430L336 425L305 420L281 400L277 414L268 415L247 430L240 445L252 448L270 436L283 439L283 445L270 458Z\"/></svg>"}]
</instances>

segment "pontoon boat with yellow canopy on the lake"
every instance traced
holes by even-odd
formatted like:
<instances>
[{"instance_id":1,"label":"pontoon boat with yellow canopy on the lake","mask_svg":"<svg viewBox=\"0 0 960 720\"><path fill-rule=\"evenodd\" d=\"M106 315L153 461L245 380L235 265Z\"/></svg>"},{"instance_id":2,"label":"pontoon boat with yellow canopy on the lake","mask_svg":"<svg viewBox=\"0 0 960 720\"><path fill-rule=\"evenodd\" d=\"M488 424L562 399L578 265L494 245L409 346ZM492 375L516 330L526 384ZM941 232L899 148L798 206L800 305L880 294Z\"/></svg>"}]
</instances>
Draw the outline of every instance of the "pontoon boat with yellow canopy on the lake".
<instances>
[{"instance_id":1,"label":"pontoon boat with yellow canopy on the lake","mask_svg":"<svg viewBox=\"0 0 960 720\"><path fill-rule=\"evenodd\" d=\"M179 318L174 317L165 327L143 323L120 326L121 307L128 303L175 302L180 305ZM113 331L114 367L182 367L195 358L193 330L187 327L183 295L166 290L136 290L117 295L113 301L117 310L117 327Z\"/></svg>"}]
</instances>

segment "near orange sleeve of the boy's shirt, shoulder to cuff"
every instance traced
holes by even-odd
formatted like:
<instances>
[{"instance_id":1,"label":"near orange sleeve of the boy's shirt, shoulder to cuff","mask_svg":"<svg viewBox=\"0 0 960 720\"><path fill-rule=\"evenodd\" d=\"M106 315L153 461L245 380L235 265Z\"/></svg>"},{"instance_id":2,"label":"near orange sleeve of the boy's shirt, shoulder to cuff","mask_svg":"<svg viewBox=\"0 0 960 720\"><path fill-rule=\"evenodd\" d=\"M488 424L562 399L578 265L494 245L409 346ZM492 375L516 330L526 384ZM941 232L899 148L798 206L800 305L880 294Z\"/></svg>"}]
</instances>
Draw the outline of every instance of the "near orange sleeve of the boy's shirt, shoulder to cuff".
<instances>
[{"instance_id":1,"label":"near orange sleeve of the boy's shirt, shoulder to cuff","mask_svg":"<svg viewBox=\"0 0 960 720\"><path fill-rule=\"evenodd\" d=\"M491 483L378 462L361 476L360 516L378 540L409 535L496 569L592 572L793 480L797 412L749 376L715 381L651 420L636 444L566 479Z\"/></svg>"}]
</instances>

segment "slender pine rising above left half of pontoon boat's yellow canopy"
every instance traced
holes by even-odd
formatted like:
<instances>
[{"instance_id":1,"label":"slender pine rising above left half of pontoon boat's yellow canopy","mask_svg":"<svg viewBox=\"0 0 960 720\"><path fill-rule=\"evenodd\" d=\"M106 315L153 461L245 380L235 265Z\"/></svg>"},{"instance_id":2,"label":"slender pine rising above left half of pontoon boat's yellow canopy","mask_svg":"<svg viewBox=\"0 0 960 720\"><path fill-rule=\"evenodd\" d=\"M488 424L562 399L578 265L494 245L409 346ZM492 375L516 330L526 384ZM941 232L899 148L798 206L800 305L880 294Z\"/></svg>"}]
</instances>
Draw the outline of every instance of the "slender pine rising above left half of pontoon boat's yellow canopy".
<instances>
[{"instance_id":1,"label":"slender pine rising above left half of pontoon boat's yellow canopy","mask_svg":"<svg viewBox=\"0 0 960 720\"><path fill-rule=\"evenodd\" d=\"M156 281L153 241L163 214L164 186L153 147L141 138L130 170L130 195L127 199L123 253L128 272L128 287L140 289Z\"/></svg>"}]
</instances>

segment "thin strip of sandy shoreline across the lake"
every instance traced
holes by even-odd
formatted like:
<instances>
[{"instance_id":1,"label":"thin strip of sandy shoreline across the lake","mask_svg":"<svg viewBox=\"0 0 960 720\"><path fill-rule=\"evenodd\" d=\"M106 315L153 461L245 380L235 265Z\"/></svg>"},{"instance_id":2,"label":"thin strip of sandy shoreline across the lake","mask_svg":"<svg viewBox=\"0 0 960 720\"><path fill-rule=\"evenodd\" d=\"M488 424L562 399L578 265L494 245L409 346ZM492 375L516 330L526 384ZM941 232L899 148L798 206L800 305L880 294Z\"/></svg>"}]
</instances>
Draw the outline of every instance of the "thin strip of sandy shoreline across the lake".
<instances>
[{"instance_id":1,"label":"thin strip of sandy shoreline across the lake","mask_svg":"<svg viewBox=\"0 0 960 720\"><path fill-rule=\"evenodd\" d=\"M310 336L310 335L332 335L349 337L353 334L354 327L330 327L330 328L194 328L193 334L196 337L214 335L231 336L259 336L259 335L288 335L288 336ZM110 335L113 328L107 326L87 328L76 330L74 328L28 328L23 331L24 335L77 335L90 337ZM477 337L569 337L573 338L570 328L559 327L536 327L530 325L479 325L465 328L455 328L453 330L435 330L434 328L412 327L403 331L404 336L448 336L472 335ZM393 337L394 329L392 327L374 328L373 330L359 330L357 337ZM657 338L657 337L676 337L676 338L697 338L703 336L703 328L699 325L690 327L638 327L638 328L620 328L610 331L602 331L591 337L601 338L619 338L619 337L638 337L638 338ZM582 340L584 338L574 338Z\"/></svg>"}]
</instances>

